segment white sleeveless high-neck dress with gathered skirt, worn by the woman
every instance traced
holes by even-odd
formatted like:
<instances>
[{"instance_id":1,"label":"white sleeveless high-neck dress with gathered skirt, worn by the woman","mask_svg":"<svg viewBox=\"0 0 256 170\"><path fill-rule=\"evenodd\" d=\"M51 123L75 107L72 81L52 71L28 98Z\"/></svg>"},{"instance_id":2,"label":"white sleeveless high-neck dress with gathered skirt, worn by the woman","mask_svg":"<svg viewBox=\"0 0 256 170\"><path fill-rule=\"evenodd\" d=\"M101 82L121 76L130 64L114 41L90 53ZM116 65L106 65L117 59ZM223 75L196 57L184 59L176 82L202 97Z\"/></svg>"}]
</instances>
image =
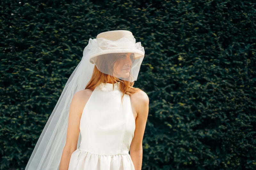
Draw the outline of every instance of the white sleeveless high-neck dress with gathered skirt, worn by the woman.
<instances>
[{"instance_id":1,"label":"white sleeveless high-neck dress with gathered skirt, worn by the woman","mask_svg":"<svg viewBox=\"0 0 256 170\"><path fill-rule=\"evenodd\" d=\"M135 120L130 96L120 82L101 83L88 99L80 119L81 143L68 170L135 170L129 154Z\"/></svg>"}]
</instances>

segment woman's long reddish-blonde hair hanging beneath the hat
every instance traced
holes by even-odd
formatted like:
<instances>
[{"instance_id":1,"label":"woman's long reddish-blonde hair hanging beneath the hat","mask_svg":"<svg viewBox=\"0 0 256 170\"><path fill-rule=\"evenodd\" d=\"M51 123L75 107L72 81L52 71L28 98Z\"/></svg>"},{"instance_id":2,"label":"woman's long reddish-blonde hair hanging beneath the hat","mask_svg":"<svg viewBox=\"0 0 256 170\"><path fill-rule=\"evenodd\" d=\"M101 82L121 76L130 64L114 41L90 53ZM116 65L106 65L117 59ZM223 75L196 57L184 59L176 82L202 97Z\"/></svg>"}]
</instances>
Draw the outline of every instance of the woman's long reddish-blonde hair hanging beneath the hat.
<instances>
[{"instance_id":1,"label":"woman's long reddish-blonde hair hanging beneath the hat","mask_svg":"<svg viewBox=\"0 0 256 170\"><path fill-rule=\"evenodd\" d=\"M109 55L111 55L111 57ZM105 69L109 69L111 71L111 74L113 75L113 72L112 72L113 69L111 68L113 68L114 64L119 61L120 58L118 56L120 56L120 53L104 54L104 55L97 56L97 60L95 60L96 65L100 68L102 68L103 66L107 67ZM133 60L134 59L132 59L132 61ZM101 83L107 83L108 74L100 72L100 70L98 70L96 65L94 66L94 69L92 72L92 78L86 85L85 89L94 90ZM113 84L113 89L114 89L114 83L120 82L120 91L123 92L123 95L121 98L122 103L123 103L124 94L133 94L135 92L141 91L141 89L133 87L134 82L125 81L125 80L113 77L111 75L109 76L110 76L110 81ZM131 72L129 73L129 77L132 77Z\"/></svg>"}]
</instances>

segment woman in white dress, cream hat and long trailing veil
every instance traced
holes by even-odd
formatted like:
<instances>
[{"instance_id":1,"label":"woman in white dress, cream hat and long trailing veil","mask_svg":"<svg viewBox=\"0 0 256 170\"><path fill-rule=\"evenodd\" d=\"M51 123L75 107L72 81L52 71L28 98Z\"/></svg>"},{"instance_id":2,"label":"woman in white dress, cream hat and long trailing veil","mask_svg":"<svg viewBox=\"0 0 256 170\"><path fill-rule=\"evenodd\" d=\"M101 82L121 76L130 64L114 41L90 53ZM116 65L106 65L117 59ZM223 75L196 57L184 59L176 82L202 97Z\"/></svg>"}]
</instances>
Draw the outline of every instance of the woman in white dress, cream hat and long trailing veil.
<instances>
[{"instance_id":1,"label":"woman in white dress, cream hat and long trailing veil","mask_svg":"<svg viewBox=\"0 0 256 170\"><path fill-rule=\"evenodd\" d=\"M46 124L47 130L53 129L49 128L51 125L54 127L49 137L51 142L40 140L40 136L39 149L35 147L27 167L56 169L59 163L60 170L141 169L149 100L145 92L132 86L144 53L130 31L108 31L98 34L96 40L90 39L81 64L66 84L67 90L64 87L63 92L68 95L63 95L65 99L60 96L65 109L61 110L58 121L54 121L57 125ZM58 113L56 110L53 113ZM50 118L48 122L54 116ZM40 150L42 158L36 150Z\"/></svg>"}]
</instances>

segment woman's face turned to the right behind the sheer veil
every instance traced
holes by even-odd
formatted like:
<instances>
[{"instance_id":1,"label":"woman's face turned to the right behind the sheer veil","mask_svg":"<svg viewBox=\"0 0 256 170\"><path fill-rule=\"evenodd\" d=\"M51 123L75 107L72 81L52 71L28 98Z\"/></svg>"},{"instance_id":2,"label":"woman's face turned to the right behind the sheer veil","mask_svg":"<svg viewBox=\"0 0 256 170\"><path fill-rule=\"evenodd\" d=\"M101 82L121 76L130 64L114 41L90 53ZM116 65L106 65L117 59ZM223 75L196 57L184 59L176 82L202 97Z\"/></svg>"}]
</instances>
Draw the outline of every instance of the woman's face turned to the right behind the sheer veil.
<instances>
[{"instance_id":1,"label":"woman's face turned to the right behind the sheer veil","mask_svg":"<svg viewBox=\"0 0 256 170\"><path fill-rule=\"evenodd\" d=\"M122 53L118 54L118 60L114 64L115 77L127 78L132 68L134 61L134 53Z\"/></svg>"}]
</instances>

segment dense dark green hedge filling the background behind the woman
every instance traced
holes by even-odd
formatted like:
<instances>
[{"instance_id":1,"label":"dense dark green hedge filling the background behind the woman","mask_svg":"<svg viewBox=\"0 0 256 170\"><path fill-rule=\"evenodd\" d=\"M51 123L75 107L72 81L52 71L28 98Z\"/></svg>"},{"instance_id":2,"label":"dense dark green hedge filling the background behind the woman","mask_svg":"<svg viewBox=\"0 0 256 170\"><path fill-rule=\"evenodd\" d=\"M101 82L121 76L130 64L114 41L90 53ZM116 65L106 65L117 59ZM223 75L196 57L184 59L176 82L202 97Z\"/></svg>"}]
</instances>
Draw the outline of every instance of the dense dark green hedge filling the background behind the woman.
<instances>
[{"instance_id":1,"label":"dense dark green hedge filling the background behind the woman","mask_svg":"<svg viewBox=\"0 0 256 170\"><path fill-rule=\"evenodd\" d=\"M0 1L0 169L24 169L89 38L145 48L142 169L256 169L252 0Z\"/></svg>"}]
</instances>

